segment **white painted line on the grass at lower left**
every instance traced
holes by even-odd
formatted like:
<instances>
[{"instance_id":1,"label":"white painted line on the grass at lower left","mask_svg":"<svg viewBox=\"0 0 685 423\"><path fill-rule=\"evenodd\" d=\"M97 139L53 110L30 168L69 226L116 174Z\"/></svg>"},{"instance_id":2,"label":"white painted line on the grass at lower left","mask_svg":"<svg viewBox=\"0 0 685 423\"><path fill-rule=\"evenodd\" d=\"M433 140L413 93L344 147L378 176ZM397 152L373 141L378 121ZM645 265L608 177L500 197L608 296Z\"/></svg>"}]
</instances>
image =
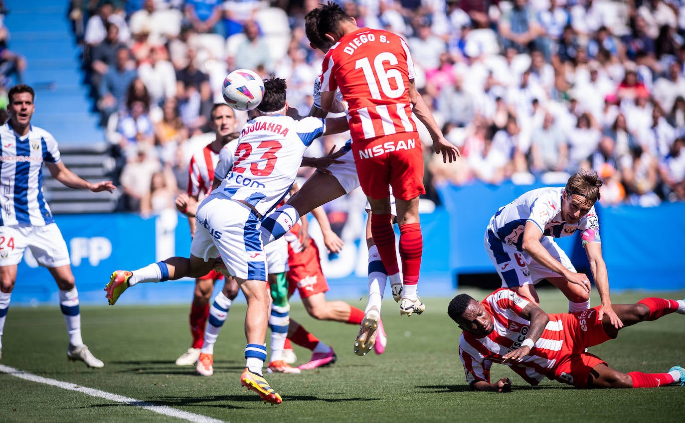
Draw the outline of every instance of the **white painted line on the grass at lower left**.
<instances>
[{"instance_id":1,"label":"white painted line on the grass at lower left","mask_svg":"<svg viewBox=\"0 0 685 423\"><path fill-rule=\"evenodd\" d=\"M149 411L154 411L155 413L169 415L169 417L187 420L188 422L192 423L223 423L222 420L216 420L206 415L188 413L188 411L177 410L167 407L166 405L155 405L153 402L141 401L134 398L128 398L127 396L110 394L110 392L104 392L99 389L92 389L89 387L76 385L75 383L55 381L55 379L48 379L36 374L25 372L23 370L17 370L9 366L3 366L1 364L0 372L7 373L10 376L18 377L19 379L25 379L26 381L45 383L46 385L61 387L62 389L69 389L70 391L83 392L86 395L105 398L105 400L125 402L126 404L134 407L141 407Z\"/></svg>"}]
</instances>

